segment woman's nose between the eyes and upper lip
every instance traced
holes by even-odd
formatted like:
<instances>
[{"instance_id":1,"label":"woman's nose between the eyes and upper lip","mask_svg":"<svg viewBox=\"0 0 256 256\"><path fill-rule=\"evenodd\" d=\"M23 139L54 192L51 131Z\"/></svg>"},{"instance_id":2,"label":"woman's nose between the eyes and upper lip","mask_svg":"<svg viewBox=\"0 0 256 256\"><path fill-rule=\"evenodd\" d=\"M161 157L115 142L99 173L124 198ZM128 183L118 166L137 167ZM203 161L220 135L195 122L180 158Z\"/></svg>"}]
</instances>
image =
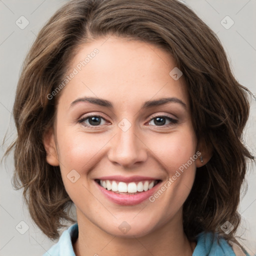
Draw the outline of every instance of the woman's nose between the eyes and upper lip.
<instances>
[{"instance_id":1,"label":"woman's nose between the eyes and upper lip","mask_svg":"<svg viewBox=\"0 0 256 256\"><path fill-rule=\"evenodd\" d=\"M141 134L136 132L135 125L132 124L127 130L120 127L117 126L117 134L110 140L108 159L123 167L131 167L136 163L144 162L148 148Z\"/></svg>"}]
</instances>

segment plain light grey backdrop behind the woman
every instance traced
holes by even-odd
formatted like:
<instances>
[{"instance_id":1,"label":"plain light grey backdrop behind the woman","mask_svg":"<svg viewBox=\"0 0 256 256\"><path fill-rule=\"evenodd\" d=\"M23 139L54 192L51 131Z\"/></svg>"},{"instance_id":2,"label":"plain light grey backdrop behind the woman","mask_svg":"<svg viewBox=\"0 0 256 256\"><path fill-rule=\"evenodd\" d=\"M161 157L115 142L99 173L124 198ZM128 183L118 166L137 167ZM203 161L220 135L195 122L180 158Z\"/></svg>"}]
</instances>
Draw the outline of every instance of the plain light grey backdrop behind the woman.
<instances>
[{"instance_id":1,"label":"plain light grey backdrop behind the woman","mask_svg":"<svg viewBox=\"0 0 256 256\"><path fill-rule=\"evenodd\" d=\"M16 134L11 111L24 56L39 29L64 2L66 1L0 0L0 140L2 141L7 131L6 145ZM189 5L217 33L228 54L235 77L254 93L250 98L251 112L244 139L250 151L256 155L256 36L254 29L256 0L186 0L182 2ZM227 15L230 18L226 17ZM15 23L16 20L20 20L20 16L24 16L29 22L23 29ZM234 24L230 26L232 22ZM24 24L25 19L22 18L22 24L19 25ZM6 145L1 147L0 157ZM0 255L39 256L53 242L30 220L28 210L22 204L22 191L15 191L11 186L12 170L11 155L6 163L0 166ZM249 164L248 190L239 205L242 222L237 232L246 239L240 242L251 255L256 255L255 170L255 165ZM27 224L28 230L24 234L20 232L26 230L26 224L20 221Z\"/></svg>"}]
</instances>

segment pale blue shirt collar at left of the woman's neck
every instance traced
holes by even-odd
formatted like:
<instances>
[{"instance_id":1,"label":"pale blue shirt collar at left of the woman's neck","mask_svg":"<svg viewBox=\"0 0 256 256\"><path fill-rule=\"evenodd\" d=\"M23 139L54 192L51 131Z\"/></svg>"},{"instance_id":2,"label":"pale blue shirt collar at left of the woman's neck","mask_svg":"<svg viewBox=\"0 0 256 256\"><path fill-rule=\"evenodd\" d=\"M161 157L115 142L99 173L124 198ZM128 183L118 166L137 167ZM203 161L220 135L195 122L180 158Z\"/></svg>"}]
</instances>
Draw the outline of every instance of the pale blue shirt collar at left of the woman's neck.
<instances>
[{"instance_id":1,"label":"pale blue shirt collar at left of the woman's neck","mask_svg":"<svg viewBox=\"0 0 256 256\"><path fill-rule=\"evenodd\" d=\"M42 256L75 256L72 241L78 236L77 222L69 226L60 235L58 242L53 244Z\"/></svg>"}]
</instances>

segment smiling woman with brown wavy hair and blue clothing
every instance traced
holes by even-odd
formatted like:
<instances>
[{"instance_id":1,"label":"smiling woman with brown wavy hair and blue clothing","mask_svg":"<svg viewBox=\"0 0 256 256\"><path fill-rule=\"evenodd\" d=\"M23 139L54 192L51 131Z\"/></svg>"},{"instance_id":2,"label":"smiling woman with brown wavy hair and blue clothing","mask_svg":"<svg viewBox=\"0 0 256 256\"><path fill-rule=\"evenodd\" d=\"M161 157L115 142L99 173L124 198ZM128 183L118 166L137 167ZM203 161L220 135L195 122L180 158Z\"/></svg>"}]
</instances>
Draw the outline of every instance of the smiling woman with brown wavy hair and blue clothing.
<instances>
[{"instance_id":1,"label":"smiling woman with brown wavy hair and blue clothing","mask_svg":"<svg viewBox=\"0 0 256 256\"><path fill-rule=\"evenodd\" d=\"M248 255L246 91L176 0L61 7L24 62L8 149L39 228L57 239L77 221L44 255Z\"/></svg>"}]
</instances>

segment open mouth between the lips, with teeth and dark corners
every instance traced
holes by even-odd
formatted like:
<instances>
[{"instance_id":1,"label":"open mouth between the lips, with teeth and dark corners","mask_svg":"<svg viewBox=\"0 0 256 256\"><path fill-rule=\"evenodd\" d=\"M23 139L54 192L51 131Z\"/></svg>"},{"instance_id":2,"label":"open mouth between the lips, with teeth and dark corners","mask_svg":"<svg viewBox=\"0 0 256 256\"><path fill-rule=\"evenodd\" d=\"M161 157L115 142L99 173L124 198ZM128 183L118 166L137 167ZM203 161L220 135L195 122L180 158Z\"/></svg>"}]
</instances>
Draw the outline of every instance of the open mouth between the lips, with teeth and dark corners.
<instances>
[{"instance_id":1,"label":"open mouth between the lips, with teeth and dark corners","mask_svg":"<svg viewBox=\"0 0 256 256\"><path fill-rule=\"evenodd\" d=\"M108 179L95 179L95 181L108 191L112 191L116 194L138 194L144 191L148 191L155 185L161 182L160 179L154 180L141 180L132 182L122 182L117 180Z\"/></svg>"}]
</instances>

